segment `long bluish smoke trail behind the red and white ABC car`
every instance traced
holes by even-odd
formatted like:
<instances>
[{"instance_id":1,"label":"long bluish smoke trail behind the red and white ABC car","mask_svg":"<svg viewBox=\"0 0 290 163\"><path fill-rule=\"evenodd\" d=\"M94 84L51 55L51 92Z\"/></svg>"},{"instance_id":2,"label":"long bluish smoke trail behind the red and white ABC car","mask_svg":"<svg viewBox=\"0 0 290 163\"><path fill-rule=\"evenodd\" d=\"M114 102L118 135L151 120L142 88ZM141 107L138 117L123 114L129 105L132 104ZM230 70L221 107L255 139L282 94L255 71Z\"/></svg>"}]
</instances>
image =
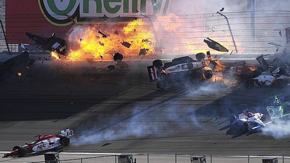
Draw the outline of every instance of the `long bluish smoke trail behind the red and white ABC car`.
<instances>
[{"instance_id":1,"label":"long bluish smoke trail behind the red and white ABC car","mask_svg":"<svg viewBox=\"0 0 290 163\"><path fill-rule=\"evenodd\" d=\"M176 131L176 128L182 130L188 129L188 127L205 127L205 124L200 122L198 115L194 113L200 105L180 107L175 104L175 101L181 98L192 99L200 94L218 96L222 89L224 88L217 87L216 84L204 83L200 87L195 85L194 90L178 93L149 107L134 105L132 110L122 110L122 113L100 115L103 118L96 117L96 122L93 122L95 125L87 127L82 125L75 128L75 136L71 138L71 142L74 145L84 145L122 139L142 139L151 136L170 137L171 135L182 135L180 131ZM185 123L188 125L184 125Z\"/></svg>"}]
</instances>

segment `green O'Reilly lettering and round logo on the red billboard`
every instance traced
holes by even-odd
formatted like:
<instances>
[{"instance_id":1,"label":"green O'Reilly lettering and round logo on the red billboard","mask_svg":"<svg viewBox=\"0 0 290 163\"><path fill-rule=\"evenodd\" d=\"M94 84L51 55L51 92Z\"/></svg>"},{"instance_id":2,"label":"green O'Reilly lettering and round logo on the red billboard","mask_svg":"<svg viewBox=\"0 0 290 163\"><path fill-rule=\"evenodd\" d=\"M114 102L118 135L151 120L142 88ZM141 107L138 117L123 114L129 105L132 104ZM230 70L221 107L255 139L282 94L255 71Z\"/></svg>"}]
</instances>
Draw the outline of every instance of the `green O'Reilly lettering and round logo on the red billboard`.
<instances>
[{"instance_id":1,"label":"green O'Reilly lettering and round logo on the red billboard","mask_svg":"<svg viewBox=\"0 0 290 163\"><path fill-rule=\"evenodd\" d=\"M108 20L120 17L164 15L171 0L38 0L43 14L53 23L65 24L78 21Z\"/></svg>"}]
</instances>

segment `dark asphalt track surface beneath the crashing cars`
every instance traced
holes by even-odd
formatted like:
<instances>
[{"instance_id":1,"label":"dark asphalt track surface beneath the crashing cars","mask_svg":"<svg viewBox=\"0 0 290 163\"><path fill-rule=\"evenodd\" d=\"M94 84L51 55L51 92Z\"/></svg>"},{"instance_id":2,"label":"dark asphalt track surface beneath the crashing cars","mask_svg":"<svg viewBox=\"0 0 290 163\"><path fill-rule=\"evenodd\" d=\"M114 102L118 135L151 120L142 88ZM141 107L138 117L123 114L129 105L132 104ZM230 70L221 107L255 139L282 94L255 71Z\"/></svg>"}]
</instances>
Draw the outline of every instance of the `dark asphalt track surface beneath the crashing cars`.
<instances>
[{"instance_id":1,"label":"dark asphalt track surface beneath the crashing cars","mask_svg":"<svg viewBox=\"0 0 290 163\"><path fill-rule=\"evenodd\" d=\"M119 73L99 71L102 66L52 68L35 63L23 75L3 81L0 152L32 142L38 134L57 135L70 128L75 135L63 152L289 155L289 134L274 138L271 132L244 133L227 122L228 108L239 113L253 105L263 111L267 95L287 95L289 88L249 90L183 81L158 89L148 81L147 63L129 65L127 73ZM35 157L0 162L30 162Z\"/></svg>"}]
</instances>

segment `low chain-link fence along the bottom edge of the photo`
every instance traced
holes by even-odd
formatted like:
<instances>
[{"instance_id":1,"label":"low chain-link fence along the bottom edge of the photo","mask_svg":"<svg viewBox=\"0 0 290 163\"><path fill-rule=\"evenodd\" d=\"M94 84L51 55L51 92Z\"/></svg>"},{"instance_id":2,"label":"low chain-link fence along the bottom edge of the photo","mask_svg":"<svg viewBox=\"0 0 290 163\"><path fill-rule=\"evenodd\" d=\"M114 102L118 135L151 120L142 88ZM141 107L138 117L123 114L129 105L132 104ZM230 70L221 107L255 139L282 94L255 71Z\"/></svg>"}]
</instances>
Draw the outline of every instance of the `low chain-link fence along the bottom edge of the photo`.
<instances>
[{"instance_id":1,"label":"low chain-link fence along the bottom edge of the photo","mask_svg":"<svg viewBox=\"0 0 290 163\"><path fill-rule=\"evenodd\" d=\"M190 163L191 157L202 158L202 155L182 155L182 154L132 154L132 162L118 162L118 155L87 157L79 159L59 160L59 163ZM257 163L262 162L262 159L277 158L279 163L290 163L290 156L218 156L206 155L205 161L196 159L199 163ZM204 161L204 160L203 160ZM48 163L30 162L30 163ZM50 163L52 163L50 161ZM55 162L56 163L56 162ZM196 162L194 162L196 163Z\"/></svg>"}]
</instances>

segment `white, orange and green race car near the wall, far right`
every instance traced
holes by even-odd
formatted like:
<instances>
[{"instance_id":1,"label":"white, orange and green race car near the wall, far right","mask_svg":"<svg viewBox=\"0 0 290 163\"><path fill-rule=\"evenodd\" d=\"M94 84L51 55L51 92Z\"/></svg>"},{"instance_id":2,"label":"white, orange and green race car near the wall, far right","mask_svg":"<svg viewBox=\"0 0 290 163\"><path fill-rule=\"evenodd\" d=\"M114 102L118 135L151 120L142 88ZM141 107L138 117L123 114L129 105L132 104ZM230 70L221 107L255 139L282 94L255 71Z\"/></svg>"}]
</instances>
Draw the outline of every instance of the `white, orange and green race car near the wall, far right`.
<instances>
[{"instance_id":1,"label":"white, orange and green race car near the wall, far right","mask_svg":"<svg viewBox=\"0 0 290 163\"><path fill-rule=\"evenodd\" d=\"M271 70L267 70L262 72L258 77L256 78L249 78L245 80L244 85L246 88L250 89L254 86L261 86L266 85L270 86L275 84L276 87L282 88L285 85L290 85L290 71L289 68L287 69L281 69L278 67L275 71L271 72Z\"/></svg>"}]
</instances>

